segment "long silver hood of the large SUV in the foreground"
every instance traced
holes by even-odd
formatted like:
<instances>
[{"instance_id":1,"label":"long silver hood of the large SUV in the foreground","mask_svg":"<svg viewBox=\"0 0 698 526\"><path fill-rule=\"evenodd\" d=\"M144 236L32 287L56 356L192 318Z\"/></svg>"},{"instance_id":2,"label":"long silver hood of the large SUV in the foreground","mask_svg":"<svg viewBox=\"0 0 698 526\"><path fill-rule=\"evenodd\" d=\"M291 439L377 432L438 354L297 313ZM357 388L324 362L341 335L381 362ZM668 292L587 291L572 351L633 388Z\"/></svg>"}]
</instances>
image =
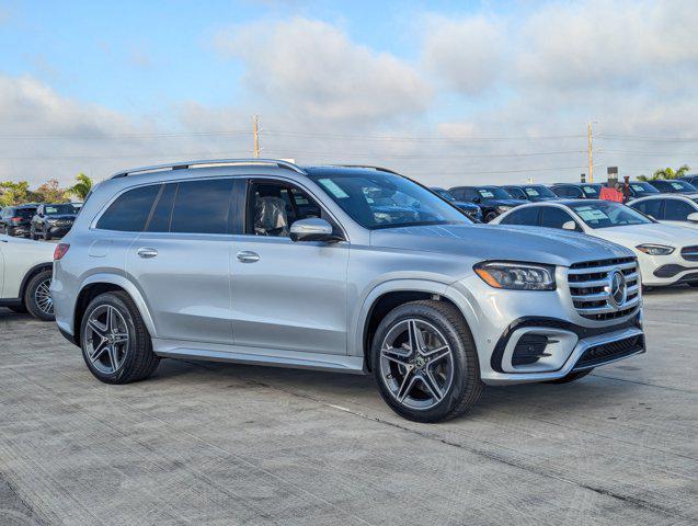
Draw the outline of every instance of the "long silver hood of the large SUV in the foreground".
<instances>
[{"instance_id":1,"label":"long silver hood of the large SUV in the foreground","mask_svg":"<svg viewBox=\"0 0 698 526\"><path fill-rule=\"evenodd\" d=\"M500 225L444 225L374 230L370 244L465 255L483 261L523 261L562 266L582 261L633 255L628 249L579 232Z\"/></svg>"}]
</instances>

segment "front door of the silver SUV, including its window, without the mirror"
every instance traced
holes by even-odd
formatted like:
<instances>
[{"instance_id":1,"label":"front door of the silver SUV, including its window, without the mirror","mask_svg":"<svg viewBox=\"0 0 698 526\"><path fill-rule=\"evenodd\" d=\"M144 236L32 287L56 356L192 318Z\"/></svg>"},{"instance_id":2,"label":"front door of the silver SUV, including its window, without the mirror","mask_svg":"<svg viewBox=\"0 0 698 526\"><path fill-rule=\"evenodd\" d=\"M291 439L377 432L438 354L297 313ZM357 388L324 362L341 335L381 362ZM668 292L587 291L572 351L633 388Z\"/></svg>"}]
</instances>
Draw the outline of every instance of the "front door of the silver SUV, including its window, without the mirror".
<instances>
[{"instance_id":1,"label":"front door of the silver SUV, including its window, without the mirror","mask_svg":"<svg viewBox=\"0 0 698 526\"><path fill-rule=\"evenodd\" d=\"M323 217L306 191L276 180L248 183L243 233L232 254L236 345L346 354L348 242L294 242L290 225Z\"/></svg>"}]
</instances>

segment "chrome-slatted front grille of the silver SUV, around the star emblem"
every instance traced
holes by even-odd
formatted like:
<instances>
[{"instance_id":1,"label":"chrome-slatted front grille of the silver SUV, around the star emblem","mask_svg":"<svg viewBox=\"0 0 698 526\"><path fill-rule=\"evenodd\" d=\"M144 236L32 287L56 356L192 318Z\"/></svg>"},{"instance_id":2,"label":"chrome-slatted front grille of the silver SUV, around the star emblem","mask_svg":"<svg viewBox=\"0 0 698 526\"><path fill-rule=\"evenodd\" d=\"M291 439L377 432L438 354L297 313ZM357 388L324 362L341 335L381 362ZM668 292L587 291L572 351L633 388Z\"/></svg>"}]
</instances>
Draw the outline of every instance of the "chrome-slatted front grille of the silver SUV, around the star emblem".
<instances>
[{"instance_id":1,"label":"chrome-slatted front grille of the silver SUV, around the star emblem","mask_svg":"<svg viewBox=\"0 0 698 526\"><path fill-rule=\"evenodd\" d=\"M626 301L616 306L610 298L609 276L622 272L627 284ZM572 302L580 316L590 320L613 320L632 313L640 304L640 275L634 258L585 261L568 271Z\"/></svg>"}]
</instances>

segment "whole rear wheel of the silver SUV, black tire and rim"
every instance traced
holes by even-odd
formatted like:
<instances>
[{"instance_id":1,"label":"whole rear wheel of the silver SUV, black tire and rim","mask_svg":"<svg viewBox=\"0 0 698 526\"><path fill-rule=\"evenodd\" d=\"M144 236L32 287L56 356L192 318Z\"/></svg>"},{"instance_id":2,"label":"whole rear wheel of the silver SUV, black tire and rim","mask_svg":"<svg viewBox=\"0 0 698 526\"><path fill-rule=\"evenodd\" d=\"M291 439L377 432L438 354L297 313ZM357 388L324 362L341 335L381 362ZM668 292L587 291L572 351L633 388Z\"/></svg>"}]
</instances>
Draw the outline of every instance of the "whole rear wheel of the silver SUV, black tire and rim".
<instances>
[{"instance_id":1,"label":"whole rear wheel of the silver SUV, black tire and rim","mask_svg":"<svg viewBox=\"0 0 698 526\"><path fill-rule=\"evenodd\" d=\"M110 345L101 334L114 343ZM136 304L124 291L105 293L90 301L80 322L80 347L90 373L105 384L144 380L160 363Z\"/></svg>"}]
</instances>

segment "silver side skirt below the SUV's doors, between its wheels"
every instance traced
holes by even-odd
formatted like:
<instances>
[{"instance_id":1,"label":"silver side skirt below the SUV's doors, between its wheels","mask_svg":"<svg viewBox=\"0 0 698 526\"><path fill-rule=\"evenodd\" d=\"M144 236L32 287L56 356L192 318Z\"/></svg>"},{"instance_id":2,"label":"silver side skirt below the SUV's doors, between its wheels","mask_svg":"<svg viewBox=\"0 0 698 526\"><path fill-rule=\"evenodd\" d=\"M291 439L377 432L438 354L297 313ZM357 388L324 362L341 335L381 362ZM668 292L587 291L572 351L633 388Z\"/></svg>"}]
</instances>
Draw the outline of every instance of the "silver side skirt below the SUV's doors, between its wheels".
<instances>
[{"instance_id":1,"label":"silver side skirt below the SUV's doors, between its wheels","mask_svg":"<svg viewBox=\"0 0 698 526\"><path fill-rule=\"evenodd\" d=\"M233 364L268 365L295 369L328 370L363 375L364 357L341 354L301 353L278 348L221 344L198 345L194 342L152 339L153 352L164 358L191 358Z\"/></svg>"}]
</instances>

